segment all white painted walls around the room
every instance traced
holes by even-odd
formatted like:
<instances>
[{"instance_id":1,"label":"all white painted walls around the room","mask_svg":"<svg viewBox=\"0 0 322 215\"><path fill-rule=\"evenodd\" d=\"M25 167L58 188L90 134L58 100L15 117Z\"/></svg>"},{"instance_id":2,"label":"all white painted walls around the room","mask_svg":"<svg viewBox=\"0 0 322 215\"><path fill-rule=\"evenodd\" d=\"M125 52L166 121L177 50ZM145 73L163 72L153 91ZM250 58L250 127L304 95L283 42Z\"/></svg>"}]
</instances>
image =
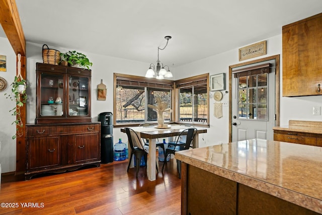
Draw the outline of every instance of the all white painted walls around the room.
<instances>
[{"instance_id":1,"label":"all white painted walls around the room","mask_svg":"<svg viewBox=\"0 0 322 215\"><path fill-rule=\"evenodd\" d=\"M280 54L280 77L282 79L282 35L277 35L271 38L263 38L267 40L267 55L263 55L257 58L252 58L246 61L263 58ZM256 43L258 41L254 41ZM50 48L58 49L61 52L72 50L72 48L66 49L62 47L53 47L48 44ZM245 44L249 45L249 44ZM7 55L8 71L7 73L0 73L0 76L6 78L9 82L16 74L16 56L13 52L8 39L0 38L0 54ZM36 111L36 62L42 62L41 54L42 44L27 42L27 79L28 79L28 94L29 99L27 103L27 122L34 123L35 111ZM77 50L83 52L82 50ZM149 63L138 62L133 60L126 60L116 57L97 55L93 53L86 53L89 59L93 62L92 66L92 118L93 121L97 121L97 116L101 112L113 112L113 73L129 74L144 76ZM245 61L243 61L245 62ZM226 73L226 90L228 90L228 66L240 63L238 61L238 48L226 51L221 54L207 57L195 62L191 62L176 68L171 68L174 74L174 79L182 79L190 76L196 76L200 74L209 73L209 75L215 75L219 73ZM107 85L107 100L97 100L97 85L101 83ZM282 83L282 82L281 82ZM282 90L282 84L281 90ZM303 84L305 87L305 84ZM0 93L1 103L1 120L0 125L0 140L3 142L3 148L0 154L0 162L2 164L3 172L12 172L16 169L16 144L15 140L11 139L11 136L15 133L15 126L11 125L14 117L9 114L11 107L11 101L6 99L3 94ZM228 94L223 91L222 101L228 101ZM312 107L322 106L322 96L307 96L307 97L281 97L280 98L280 124L288 124L290 119L298 120L312 120L322 121L322 116L313 116ZM213 116L213 103L214 100L210 99L210 128L208 133L199 135L200 147L219 144L219 142L228 142L228 107L223 107L223 117L217 119ZM113 129L114 142L118 138L127 139L124 133L120 132L120 128Z\"/></svg>"}]
</instances>

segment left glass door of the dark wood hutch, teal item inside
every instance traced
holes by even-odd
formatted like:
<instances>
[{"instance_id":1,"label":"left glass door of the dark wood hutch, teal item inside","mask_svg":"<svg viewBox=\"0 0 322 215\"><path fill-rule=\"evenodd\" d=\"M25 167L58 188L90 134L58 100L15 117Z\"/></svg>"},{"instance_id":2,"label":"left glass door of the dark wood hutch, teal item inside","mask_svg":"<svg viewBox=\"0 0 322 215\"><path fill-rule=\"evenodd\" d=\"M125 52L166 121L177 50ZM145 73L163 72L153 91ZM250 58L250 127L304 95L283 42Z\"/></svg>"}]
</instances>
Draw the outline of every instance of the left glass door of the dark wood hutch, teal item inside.
<instances>
[{"instance_id":1,"label":"left glass door of the dark wood hutch, teal item inside","mask_svg":"<svg viewBox=\"0 0 322 215\"><path fill-rule=\"evenodd\" d=\"M65 98L63 83L63 75L49 73L41 74L40 116L47 117L64 115L63 101Z\"/></svg>"}]
</instances>

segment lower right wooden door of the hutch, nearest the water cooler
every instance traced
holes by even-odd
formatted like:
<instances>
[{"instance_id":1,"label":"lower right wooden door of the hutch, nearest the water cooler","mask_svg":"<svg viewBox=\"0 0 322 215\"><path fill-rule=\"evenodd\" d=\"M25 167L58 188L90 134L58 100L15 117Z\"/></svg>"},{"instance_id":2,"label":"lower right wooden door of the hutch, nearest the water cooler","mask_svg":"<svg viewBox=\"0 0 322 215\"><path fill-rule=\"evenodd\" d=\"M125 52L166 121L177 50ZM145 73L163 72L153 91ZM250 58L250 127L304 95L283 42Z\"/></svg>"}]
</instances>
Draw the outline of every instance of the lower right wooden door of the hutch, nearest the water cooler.
<instances>
[{"instance_id":1,"label":"lower right wooden door of the hutch, nearest the water cooler","mask_svg":"<svg viewBox=\"0 0 322 215\"><path fill-rule=\"evenodd\" d=\"M100 160L100 141L98 133L75 135L75 163L87 163Z\"/></svg>"}]
</instances>

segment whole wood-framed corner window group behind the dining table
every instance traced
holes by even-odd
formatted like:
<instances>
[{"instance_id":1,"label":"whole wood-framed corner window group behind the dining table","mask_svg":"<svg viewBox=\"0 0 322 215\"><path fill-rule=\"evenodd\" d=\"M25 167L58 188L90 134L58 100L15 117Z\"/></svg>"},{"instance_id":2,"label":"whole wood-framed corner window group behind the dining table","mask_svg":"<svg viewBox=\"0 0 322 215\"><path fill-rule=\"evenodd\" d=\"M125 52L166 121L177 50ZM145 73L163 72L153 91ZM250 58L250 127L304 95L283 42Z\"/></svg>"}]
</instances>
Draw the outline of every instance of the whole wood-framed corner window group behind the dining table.
<instances>
[{"instance_id":1,"label":"whole wood-framed corner window group behind the dining table","mask_svg":"<svg viewBox=\"0 0 322 215\"><path fill-rule=\"evenodd\" d=\"M166 122L209 125L208 80L209 74L178 81L114 74L114 125L156 122L157 113L147 105L157 97L172 109L164 113Z\"/></svg>"}]
</instances>

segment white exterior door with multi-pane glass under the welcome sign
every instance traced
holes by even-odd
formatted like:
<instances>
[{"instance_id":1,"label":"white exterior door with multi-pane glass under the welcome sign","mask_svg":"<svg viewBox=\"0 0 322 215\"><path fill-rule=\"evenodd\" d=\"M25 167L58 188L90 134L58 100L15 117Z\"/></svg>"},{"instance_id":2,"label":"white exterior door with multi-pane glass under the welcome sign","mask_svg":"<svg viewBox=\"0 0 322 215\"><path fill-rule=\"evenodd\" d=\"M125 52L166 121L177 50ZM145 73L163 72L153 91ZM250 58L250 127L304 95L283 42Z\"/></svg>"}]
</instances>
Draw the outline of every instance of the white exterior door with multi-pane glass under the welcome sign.
<instances>
[{"instance_id":1,"label":"white exterior door with multi-pane glass under the welcome sign","mask_svg":"<svg viewBox=\"0 0 322 215\"><path fill-rule=\"evenodd\" d=\"M275 60L246 65L253 67L270 63L269 73L244 73L231 77L232 141L261 138L273 140L275 126ZM236 67L232 73L238 69Z\"/></svg>"}]
</instances>

